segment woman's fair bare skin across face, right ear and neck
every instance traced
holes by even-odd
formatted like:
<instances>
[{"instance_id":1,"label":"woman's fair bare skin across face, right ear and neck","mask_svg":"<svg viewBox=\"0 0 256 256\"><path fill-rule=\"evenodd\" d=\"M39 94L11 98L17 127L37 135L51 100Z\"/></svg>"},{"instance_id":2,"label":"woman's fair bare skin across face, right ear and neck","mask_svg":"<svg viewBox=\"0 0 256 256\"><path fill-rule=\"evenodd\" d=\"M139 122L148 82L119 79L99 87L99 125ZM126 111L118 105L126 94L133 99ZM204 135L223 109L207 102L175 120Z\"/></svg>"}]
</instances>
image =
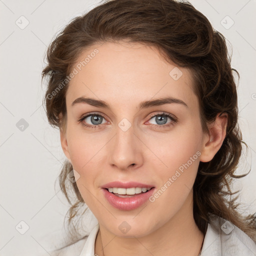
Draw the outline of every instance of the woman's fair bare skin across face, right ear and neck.
<instances>
[{"instance_id":1,"label":"woman's fair bare skin across face, right ear and neck","mask_svg":"<svg viewBox=\"0 0 256 256\"><path fill-rule=\"evenodd\" d=\"M126 41L94 44L77 63L94 48L99 52L67 89L67 118L60 139L63 152L80 175L78 189L99 223L95 253L197 256L203 234L193 219L192 186L199 161L211 160L223 142L227 115L217 115L208 124L210 134L204 133L190 71L178 67L183 74L174 80L169 72L176 65L166 62L156 48ZM104 100L111 109L85 103L71 106L81 96ZM138 109L141 101L166 96L183 100L187 107L171 103ZM164 124L170 126L160 127L152 117L159 111L178 121L167 117ZM104 116L100 127L77 122L89 112ZM123 118L131 124L127 131L118 126ZM93 125L90 116L86 122ZM114 180L153 184L158 190L197 151L200 156L154 202L124 211L112 207L102 194L100 187ZM125 234L118 228L123 221L130 225Z\"/></svg>"}]
</instances>

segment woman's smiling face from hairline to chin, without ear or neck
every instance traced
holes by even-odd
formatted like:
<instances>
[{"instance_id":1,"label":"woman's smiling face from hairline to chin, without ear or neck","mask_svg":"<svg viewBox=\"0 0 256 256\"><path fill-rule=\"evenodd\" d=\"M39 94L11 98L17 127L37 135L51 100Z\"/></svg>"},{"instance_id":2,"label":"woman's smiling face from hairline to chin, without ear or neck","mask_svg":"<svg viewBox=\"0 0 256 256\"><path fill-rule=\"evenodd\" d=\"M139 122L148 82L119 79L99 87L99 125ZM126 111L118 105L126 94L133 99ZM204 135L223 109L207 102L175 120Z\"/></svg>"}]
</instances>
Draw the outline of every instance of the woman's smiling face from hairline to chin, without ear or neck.
<instances>
[{"instance_id":1,"label":"woman's smiling face from hairline to chin, without ear or neck","mask_svg":"<svg viewBox=\"0 0 256 256\"><path fill-rule=\"evenodd\" d=\"M208 139L190 71L167 63L154 47L125 42L95 44L74 67L61 145L99 224L115 235L139 237L186 219ZM121 184L106 185L113 181ZM125 185L130 189L117 192L138 194L124 198L105 189Z\"/></svg>"}]
</instances>

